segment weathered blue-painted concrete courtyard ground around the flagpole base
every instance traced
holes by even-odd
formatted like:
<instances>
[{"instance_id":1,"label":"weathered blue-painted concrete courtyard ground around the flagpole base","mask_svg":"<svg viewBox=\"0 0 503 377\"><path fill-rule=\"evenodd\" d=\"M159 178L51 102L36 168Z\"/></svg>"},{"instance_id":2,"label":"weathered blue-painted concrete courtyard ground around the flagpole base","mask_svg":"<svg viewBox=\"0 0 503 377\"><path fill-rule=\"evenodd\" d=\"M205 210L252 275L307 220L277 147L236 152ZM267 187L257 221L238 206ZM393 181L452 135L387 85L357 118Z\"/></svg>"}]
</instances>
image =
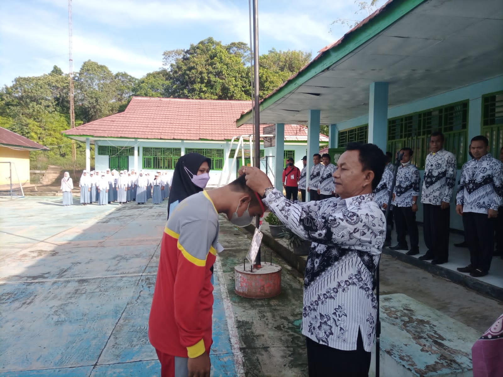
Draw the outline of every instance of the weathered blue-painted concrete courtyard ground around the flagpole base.
<instances>
[{"instance_id":1,"label":"weathered blue-painted concrete courtyard ground around the flagpole base","mask_svg":"<svg viewBox=\"0 0 503 377\"><path fill-rule=\"evenodd\" d=\"M147 323L166 201L60 204L59 197L0 201L0 376L160 376ZM225 250L215 265L212 376L307 376L303 276L273 254L283 268L282 293L269 300L237 296L234 266L242 263L249 239L221 216ZM442 375L429 365L445 349L462 350L454 361L447 357L446 370L469 368L471 345L503 311L502 303L389 256L382 260L383 316L389 319L383 320L383 348L396 349L397 360L407 353L418 370L413 375ZM406 319L397 316L404 307ZM446 346L417 351L428 339L413 336L420 327L403 330L412 317L429 323L426 331L434 340L444 337ZM399 350L404 331L410 344Z\"/></svg>"}]
</instances>

